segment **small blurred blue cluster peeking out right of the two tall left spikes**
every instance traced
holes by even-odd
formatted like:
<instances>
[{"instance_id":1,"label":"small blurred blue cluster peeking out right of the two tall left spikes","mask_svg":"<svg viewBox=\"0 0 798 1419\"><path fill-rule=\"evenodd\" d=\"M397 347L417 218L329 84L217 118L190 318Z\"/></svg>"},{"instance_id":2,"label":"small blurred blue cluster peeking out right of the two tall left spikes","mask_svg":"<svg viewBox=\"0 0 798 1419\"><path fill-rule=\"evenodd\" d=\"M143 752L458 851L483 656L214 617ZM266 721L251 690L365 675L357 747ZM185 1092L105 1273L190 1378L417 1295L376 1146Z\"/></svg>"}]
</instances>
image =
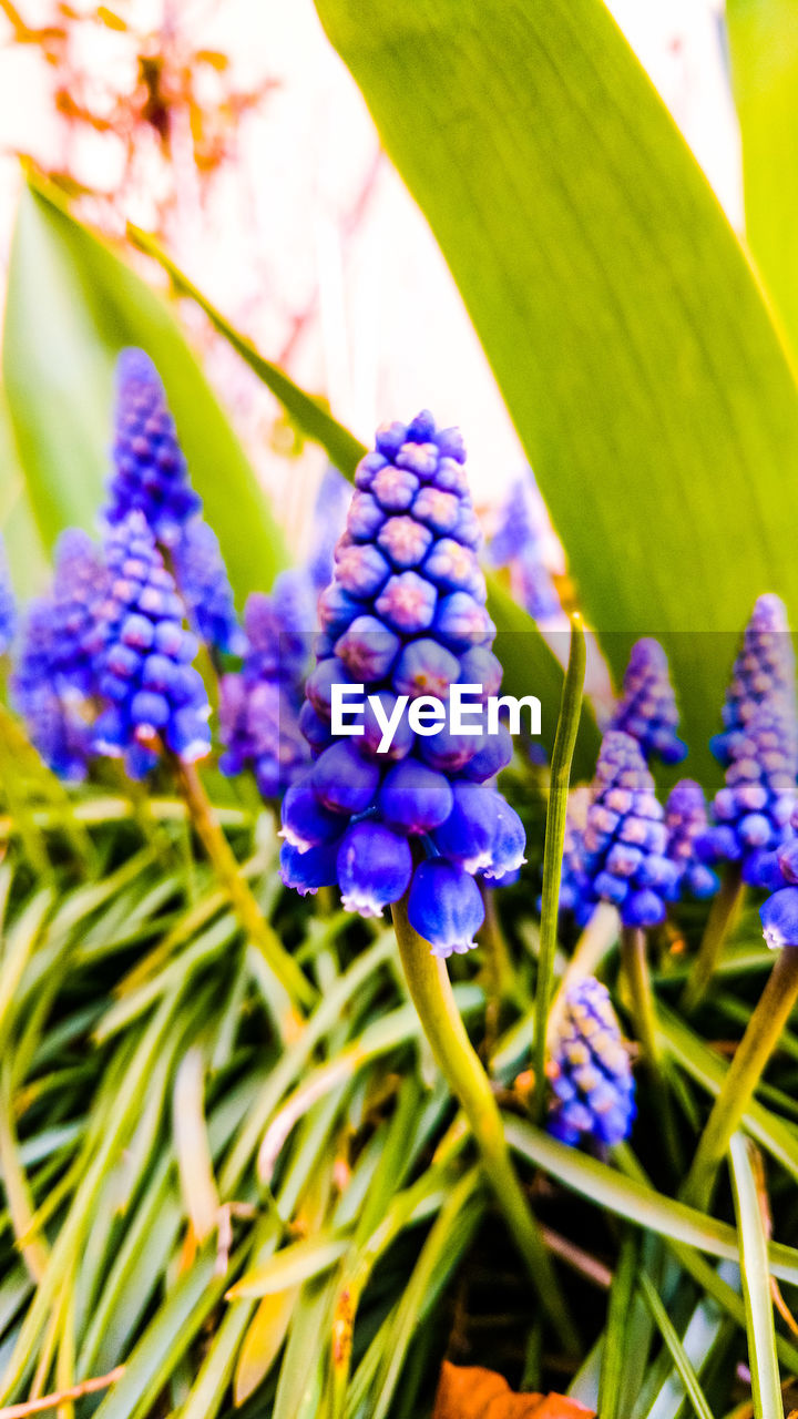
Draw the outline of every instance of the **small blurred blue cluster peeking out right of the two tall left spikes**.
<instances>
[{"instance_id":1,"label":"small blurred blue cluster peeking out right of the two tall left spikes","mask_svg":"<svg viewBox=\"0 0 798 1419\"><path fill-rule=\"evenodd\" d=\"M183 529L172 558L180 596L197 636L212 651L243 656L247 639L239 626L233 587L213 528L203 518L195 518Z\"/></svg>"}]
</instances>

